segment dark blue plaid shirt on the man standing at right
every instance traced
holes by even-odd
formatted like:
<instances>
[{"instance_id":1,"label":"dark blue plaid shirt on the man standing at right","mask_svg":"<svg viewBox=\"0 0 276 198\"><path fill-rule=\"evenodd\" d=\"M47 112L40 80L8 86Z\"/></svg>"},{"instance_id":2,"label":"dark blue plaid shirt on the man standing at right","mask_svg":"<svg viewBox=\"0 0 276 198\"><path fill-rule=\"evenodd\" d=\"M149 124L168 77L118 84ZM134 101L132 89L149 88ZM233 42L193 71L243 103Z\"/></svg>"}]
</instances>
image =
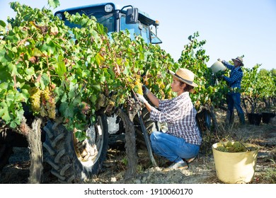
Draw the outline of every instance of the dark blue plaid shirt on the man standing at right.
<instances>
[{"instance_id":1,"label":"dark blue plaid shirt on the man standing at right","mask_svg":"<svg viewBox=\"0 0 276 198\"><path fill-rule=\"evenodd\" d=\"M243 71L241 66L235 68L235 66L229 64L229 62L222 62L228 69L231 70L230 77L224 76L224 80L227 81L230 88L241 88L241 79L243 78Z\"/></svg>"}]
</instances>

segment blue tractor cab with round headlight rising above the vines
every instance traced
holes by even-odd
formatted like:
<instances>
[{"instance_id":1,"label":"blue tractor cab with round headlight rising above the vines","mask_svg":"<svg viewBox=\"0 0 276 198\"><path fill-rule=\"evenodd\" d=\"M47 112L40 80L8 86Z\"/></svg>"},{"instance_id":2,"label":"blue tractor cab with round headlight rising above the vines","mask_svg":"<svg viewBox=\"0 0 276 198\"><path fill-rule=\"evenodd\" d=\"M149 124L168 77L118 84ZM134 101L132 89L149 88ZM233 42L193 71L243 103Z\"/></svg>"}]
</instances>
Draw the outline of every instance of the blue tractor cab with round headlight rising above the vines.
<instances>
[{"instance_id":1,"label":"blue tractor cab with round headlight rising above the vines","mask_svg":"<svg viewBox=\"0 0 276 198\"><path fill-rule=\"evenodd\" d=\"M93 4L67 8L54 13L55 16L58 16L65 22L65 25L74 28L78 27L78 25L67 21L64 17L64 12L94 16L98 23L103 24L108 29L108 35L113 32L128 30L132 39L134 35L141 35L146 43L161 43L161 40L157 37L159 21L155 21L148 14L139 11L138 8L134 8L133 6L123 6L120 8L113 3ZM155 28L155 33L152 31L153 28Z\"/></svg>"}]
</instances>

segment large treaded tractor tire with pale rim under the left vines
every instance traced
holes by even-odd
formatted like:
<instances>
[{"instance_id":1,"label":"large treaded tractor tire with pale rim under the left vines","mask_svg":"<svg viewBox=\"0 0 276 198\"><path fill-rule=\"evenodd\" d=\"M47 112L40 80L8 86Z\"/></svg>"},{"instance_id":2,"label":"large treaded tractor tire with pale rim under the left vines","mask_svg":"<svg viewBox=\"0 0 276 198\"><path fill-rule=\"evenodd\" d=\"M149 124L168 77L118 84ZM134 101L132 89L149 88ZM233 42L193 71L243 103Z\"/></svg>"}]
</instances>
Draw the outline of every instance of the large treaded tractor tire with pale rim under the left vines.
<instances>
[{"instance_id":1,"label":"large treaded tractor tire with pale rim under the left vines","mask_svg":"<svg viewBox=\"0 0 276 198\"><path fill-rule=\"evenodd\" d=\"M49 121L44 127L44 162L62 183L81 183L96 175L108 151L108 123L105 115L86 129L87 139L77 141L62 124Z\"/></svg>"}]
</instances>

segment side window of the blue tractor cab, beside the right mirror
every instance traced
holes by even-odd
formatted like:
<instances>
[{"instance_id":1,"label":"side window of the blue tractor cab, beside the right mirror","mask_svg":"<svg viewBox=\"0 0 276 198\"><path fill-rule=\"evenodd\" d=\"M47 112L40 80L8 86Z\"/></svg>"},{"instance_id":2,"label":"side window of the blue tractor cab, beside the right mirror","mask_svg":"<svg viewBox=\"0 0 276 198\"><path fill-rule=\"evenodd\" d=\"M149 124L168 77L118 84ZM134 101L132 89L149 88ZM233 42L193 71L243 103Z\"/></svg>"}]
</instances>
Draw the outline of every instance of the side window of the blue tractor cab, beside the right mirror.
<instances>
[{"instance_id":1,"label":"side window of the blue tractor cab, beside the right mirror","mask_svg":"<svg viewBox=\"0 0 276 198\"><path fill-rule=\"evenodd\" d=\"M137 24L126 24L125 23L125 15L122 15L120 21L120 30L128 30L130 32L130 37L133 40L134 35L141 35L146 43L150 43L150 31L149 26L144 25L142 23Z\"/></svg>"}]
</instances>

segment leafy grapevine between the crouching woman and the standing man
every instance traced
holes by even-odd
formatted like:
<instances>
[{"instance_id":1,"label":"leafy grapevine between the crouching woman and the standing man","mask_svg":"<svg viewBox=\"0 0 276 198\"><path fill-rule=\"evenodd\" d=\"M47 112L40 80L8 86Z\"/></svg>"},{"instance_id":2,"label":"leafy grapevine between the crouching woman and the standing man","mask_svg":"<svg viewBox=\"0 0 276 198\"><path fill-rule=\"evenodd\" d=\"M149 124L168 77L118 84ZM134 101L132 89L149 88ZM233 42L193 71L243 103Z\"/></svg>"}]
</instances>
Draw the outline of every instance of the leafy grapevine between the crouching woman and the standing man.
<instances>
[{"instance_id":1,"label":"leafy grapevine between the crouching woman and the standing man","mask_svg":"<svg viewBox=\"0 0 276 198\"><path fill-rule=\"evenodd\" d=\"M220 105L225 100L225 94L228 91L226 83L220 81L218 83L217 76L212 74L212 70L207 67L209 56L204 50L205 40L198 41L199 33L190 35L188 45L184 46L178 64L180 67L190 69L195 74L195 82L198 88L195 88L195 93L190 95L195 103L197 110L202 105ZM218 100L218 98L220 100Z\"/></svg>"}]
</instances>

